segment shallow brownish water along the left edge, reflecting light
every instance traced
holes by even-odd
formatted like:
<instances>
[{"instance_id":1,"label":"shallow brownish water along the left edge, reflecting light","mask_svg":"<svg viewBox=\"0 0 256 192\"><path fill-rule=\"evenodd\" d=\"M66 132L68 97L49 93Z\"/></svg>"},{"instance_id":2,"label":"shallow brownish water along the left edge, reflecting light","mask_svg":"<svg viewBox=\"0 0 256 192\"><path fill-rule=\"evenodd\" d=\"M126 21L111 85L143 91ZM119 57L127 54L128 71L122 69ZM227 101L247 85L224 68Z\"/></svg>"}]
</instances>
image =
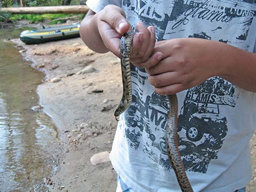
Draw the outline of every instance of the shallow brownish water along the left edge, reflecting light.
<instances>
[{"instance_id":1,"label":"shallow brownish water along the left edge, reflecting light","mask_svg":"<svg viewBox=\"0 0 256 192\"><path fill-rule=\"evenodd\" d=\"M42 111L33 112L44 74L3 39L20 32L0 29L0 191L47 191L45 177L57 169L57 129Z\"/></svg>"}]
</instances>

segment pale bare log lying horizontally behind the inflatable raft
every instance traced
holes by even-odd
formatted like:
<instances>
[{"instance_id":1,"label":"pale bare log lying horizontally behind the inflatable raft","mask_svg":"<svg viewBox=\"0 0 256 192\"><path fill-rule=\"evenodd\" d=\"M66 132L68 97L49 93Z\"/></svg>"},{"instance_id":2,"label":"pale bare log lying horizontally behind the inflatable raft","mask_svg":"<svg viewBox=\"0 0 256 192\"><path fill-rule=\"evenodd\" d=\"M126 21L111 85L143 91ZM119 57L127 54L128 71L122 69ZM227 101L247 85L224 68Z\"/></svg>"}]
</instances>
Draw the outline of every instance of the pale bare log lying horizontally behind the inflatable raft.
<instances>
[{"instance_id":1,"label":"pale bare log lying horizontally behind the inflatable raft","mask_svg":"<svg viewBox=\"0 0 256 192\"><path fill-rule=\"evenodd\" d=\"M53 6L53 7L23 7L23 8L0 8L1 12L11 14L86 14L89 8L86 5Z\"/></svg>"}]
</instances>

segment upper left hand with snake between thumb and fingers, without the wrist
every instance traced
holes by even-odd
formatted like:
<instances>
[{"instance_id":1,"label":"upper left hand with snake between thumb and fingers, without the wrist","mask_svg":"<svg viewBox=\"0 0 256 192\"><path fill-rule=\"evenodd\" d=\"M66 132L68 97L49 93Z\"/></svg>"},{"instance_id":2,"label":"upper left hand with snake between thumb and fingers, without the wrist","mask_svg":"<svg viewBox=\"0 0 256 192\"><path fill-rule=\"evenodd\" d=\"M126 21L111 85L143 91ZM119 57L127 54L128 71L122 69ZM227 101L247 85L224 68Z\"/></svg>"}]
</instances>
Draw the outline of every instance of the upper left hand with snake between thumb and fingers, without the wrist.
<instances>
[{"instance_id":1,"label":"upper left hand with snake between thumb and fingers, without the wrist","mask_svg":"<svg viewBox=\"0 0 256 192\"><path fill-rule=\"evenodd\" d=\"M120 57L121 35L132 30L125 18L124 11L115 5L107 5L97 15L97 28L104 45L109 51ZM153 26L147 28L143 26L143 23L138 23L136 29L138 33L133 38L131 54L131 62L135 65L147 61L155 46Z\"/></svg>"}]
</instances>

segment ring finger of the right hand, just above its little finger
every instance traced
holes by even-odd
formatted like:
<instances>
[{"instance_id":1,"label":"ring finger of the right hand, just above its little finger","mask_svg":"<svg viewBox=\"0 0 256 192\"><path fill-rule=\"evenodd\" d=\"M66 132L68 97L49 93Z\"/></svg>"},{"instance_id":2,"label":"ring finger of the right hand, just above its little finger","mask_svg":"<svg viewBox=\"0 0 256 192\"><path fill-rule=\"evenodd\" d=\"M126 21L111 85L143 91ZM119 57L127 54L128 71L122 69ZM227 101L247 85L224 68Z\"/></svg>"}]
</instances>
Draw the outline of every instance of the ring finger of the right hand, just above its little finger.
<instances>
[{"instance_id":1,"label":"ring finger of the right hand, just above its little finger","mask_svg":"<svg viewBox=\"0 0 256 192\"><path fill-rule=\"evenodd\" d=\"M148 81L155 87L167 86L170 84L181 83L178 72L170 71L148 77Z\"/></svg>"}]
</instances>

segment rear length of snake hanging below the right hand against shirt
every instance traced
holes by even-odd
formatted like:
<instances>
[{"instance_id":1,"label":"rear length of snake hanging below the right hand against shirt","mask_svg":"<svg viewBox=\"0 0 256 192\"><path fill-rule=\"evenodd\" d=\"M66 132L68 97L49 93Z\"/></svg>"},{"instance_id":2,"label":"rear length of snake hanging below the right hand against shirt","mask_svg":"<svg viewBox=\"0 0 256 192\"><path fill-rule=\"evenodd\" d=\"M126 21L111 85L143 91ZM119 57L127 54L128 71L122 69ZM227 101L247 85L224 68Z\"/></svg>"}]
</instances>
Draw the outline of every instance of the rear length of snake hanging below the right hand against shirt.
<instances>
[{"instance_id":1,"label":"rear length of snake hanging below the right hand against shirt","mask_svg":"<svg viewBox=\"0 0 256 192\"><path fill-rule=\"evenodd\" d=\"M168 114L168 125L166 129L166 147L176 178L182 192L193 192L190 182L188 181L184 164L181 159L178 146L178 99L176 94L168 96L170 109Z\"/></svg>"}]
</instances>

